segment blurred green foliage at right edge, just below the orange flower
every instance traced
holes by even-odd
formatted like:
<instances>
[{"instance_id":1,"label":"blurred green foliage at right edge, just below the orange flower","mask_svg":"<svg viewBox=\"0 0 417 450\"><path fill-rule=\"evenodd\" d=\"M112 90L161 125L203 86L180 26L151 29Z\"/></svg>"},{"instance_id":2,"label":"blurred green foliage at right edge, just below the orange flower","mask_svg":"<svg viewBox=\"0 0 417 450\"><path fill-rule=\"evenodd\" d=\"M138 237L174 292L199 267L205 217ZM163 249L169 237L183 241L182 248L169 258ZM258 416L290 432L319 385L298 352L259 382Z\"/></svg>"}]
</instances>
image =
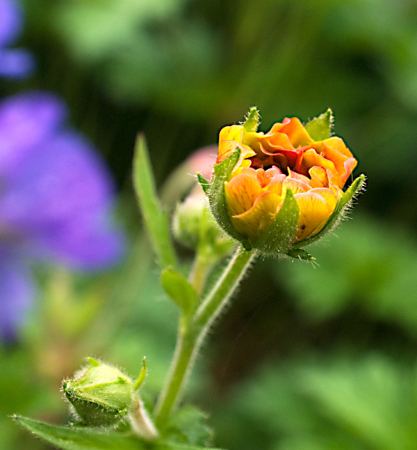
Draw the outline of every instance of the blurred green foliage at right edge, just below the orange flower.
<instances>
[{"instance_id":1,"label":"blurred green foliage at right edge, just below the orange flower","mask_svg":"<svg viewBox=\"0 0 417 450\"><path fill-rule=\"evenodd\" d=\"M360 308L415 337L417 242L412 233L355 215L326 244L310 247L317 266L275 267L287 272L283 280L306 316L318 321Z\"/></svg>"}]
</instances>

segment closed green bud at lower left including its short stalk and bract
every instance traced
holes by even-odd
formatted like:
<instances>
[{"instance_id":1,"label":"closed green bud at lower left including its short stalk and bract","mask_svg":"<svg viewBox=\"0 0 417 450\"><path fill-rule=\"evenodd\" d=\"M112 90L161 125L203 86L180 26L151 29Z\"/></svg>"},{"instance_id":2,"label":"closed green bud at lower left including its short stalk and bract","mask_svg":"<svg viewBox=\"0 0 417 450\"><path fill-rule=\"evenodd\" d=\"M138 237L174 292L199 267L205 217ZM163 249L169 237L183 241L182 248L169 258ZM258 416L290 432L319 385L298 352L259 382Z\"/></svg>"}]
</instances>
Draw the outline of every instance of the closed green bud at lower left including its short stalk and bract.
<instances>
[{"instance_id":1,"label":"closed green bud at lower left including its short stalk and bract","mask_svg":"<svg viewBox=\"0 0 417 450\"><path fill-rule=\"evenodd\" d=\"M155 439L158 432L137 393L146 377L145 359L136 381L109 364L93 358L88 362L74 379L62 383L74 416L91 427L117 427L129 422L140 437Z\"/></svg>"}]
</instances>

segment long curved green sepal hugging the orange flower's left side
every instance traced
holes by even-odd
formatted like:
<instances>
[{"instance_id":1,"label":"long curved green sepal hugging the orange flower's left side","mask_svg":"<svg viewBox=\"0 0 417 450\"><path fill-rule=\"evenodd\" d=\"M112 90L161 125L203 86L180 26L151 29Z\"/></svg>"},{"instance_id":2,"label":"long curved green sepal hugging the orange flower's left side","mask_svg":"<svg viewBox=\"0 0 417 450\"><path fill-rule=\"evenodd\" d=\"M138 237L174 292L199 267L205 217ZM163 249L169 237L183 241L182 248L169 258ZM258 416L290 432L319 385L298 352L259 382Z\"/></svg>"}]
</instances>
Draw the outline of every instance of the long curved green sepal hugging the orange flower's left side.
<instances>
[{"instance_id":1,"label":"long curved green sepal hugging the orange flower's left side","mask_svg":"<svg viewBox=\"0 0 417 450\"><path fill-rule=\"evenodd\" d=\"M232 225L227 210L224 183L229 180L240 158L240 150L236 149L224 161L214 166L214 177L209 191L210 209L216 222L232 238L240 241L246 250L251 250L248 240L238 233Z\"/></svg>"}]
</instances>

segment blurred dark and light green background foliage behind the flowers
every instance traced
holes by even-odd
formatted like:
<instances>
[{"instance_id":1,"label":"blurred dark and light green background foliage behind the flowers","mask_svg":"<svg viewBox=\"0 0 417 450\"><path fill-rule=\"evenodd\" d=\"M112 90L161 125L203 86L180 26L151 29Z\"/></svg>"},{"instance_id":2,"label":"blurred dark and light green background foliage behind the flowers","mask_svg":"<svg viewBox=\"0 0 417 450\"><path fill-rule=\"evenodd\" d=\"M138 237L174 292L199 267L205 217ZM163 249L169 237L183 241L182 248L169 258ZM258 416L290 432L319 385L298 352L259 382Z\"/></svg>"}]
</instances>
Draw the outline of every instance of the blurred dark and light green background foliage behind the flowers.
<instances>
[{"instance_id":1,"label":"blurred dark and light green background foliage behind the flowers","mask_svg":"<svg viewBox=\"0 0 417 450\"><path fill-rule=\"evenodd\" d=\"M117 181L132 242L94 277L39 269L42 296L20 340L0 347L0 442L50 448L7 415L64 423L59 393L87 355L155 398L177 312L131 188L138 131L158 186L249 106L261 129L331 107L367 192L317 264L260 261L201 352L187 399L230 450L417 448L417 3L414 0L26 0L19 42L37 73L2 82L59 93ZM187 176L187 175L185 175ZM178 197L181 196L178 192ZM184 258L191 254L179 248Z\"/></svg>"}]
</instances>

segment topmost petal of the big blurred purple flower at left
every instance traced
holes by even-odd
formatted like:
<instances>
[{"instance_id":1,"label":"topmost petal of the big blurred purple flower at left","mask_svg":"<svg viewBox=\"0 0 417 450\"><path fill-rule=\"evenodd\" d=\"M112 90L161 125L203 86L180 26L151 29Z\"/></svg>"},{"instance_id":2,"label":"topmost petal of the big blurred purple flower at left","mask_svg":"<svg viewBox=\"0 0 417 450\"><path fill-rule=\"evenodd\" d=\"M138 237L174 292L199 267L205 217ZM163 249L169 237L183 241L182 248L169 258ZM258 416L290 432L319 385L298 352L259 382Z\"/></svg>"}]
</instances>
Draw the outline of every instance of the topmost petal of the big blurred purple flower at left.
<instances>
[{"instance_id":1,"label":"topmost petal of the big blurred purple flower at left","mask_svg":"<svg viewBox=\"0 0 417 450\"><path fill-rule=\"evenodd\" d=\"M0 0L1 1L1 0ZM15 167L47 140L66 115L64 103L44 92L24 92L0 104L0 176L11 178Z\"/></svg>"}]
</instances>

